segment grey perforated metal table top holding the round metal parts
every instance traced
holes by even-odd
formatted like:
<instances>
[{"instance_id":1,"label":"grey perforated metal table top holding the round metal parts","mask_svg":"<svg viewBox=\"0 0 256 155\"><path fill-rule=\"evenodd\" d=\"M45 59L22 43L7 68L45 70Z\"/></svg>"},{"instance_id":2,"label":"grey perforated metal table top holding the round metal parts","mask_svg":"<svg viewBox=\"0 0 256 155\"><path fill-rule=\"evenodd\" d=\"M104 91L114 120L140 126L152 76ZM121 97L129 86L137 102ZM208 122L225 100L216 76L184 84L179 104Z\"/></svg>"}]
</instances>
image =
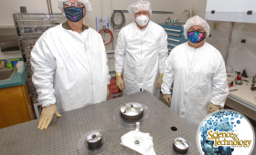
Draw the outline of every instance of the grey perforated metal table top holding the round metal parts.
<instances>
[{"instance_id":1,"label":"grey perforated metal table top holding the round metal parts","mask_svg":"<svg viewBox=\"0 0 256 155\"><path fill-rule=\"evenodd\" d=\"M112 151L109 154L128 154L120 142L121 136L129 130L118 127L113 121L113 111L120 104L132 101L143 103L150 111L150 120L140 130L153 137L157 155L176 154L167 151L168 141L176 137L190 141L191 154L199 154L196 129L146 91L64 112L61 118L53 118L48 129L37 129L38 120L0 129L0 154L78 154L78 140L92 129L109 131L112 137ZM172 131L172 126L178 130Z\"/></svg>"}]
</instances>

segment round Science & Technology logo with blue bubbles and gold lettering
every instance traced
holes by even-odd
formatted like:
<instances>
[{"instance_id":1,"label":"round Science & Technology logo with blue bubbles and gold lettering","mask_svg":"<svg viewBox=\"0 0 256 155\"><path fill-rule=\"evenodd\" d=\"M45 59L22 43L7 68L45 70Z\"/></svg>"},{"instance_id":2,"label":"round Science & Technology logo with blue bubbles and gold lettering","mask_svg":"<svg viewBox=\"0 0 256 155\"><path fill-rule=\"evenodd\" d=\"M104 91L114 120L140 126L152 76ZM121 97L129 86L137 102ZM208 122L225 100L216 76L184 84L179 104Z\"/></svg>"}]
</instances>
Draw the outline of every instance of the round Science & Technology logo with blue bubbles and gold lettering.
<instances>
[{"instance_id":1,"label":"round Science & Technology logo with blue bubbles and gold lettering","mask_svg":"<svg viewBox=\"0 0 256 155\"><path fill-rule=\"evenodd\" d=\"M247 118L235 110L223 109L201 122L196 140L202 155L251 155L255 133Z\"/></svg>"}]
</instances>

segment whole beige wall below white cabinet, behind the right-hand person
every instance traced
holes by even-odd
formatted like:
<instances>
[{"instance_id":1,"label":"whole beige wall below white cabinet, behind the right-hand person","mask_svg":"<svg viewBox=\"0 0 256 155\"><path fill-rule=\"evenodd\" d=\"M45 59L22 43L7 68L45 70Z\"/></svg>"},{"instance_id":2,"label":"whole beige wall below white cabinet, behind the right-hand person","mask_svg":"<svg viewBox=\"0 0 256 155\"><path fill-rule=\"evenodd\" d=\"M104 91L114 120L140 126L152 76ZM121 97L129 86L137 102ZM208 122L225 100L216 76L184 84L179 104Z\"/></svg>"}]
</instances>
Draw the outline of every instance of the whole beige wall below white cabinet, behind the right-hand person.
<instances>
[{"instance_id":1,"label":"whole beige wall below white cabinet, behind the right-hand person","mask_svg":"<svg viewBox=\"0 0 256 155\"><path fill-rule=\"evenodd\" d=\"M249 77L256 74L256 24L208 21L207 42L216 47L233 71L246 69ZM215 27L215 28L214 28Z\"/></svg>"}]
</instances>

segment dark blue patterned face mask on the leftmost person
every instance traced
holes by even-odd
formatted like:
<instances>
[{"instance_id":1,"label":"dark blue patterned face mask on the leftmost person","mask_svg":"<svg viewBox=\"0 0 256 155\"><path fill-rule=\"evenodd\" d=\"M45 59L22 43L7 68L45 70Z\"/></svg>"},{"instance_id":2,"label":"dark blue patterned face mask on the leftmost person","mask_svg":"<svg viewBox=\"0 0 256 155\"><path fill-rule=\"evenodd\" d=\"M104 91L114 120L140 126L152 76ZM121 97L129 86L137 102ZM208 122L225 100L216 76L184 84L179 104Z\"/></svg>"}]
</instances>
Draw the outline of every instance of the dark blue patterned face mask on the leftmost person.
<instances>
[{"instance_id":1,"label":"dark blue patterned face mask on the leftmost person","mask_svg":"<svg viewBox=\"0 0 256 155\"><path fill-rule=\"evenodd\" d=\"M65 15L71 22L78 22L83 18L84 7L66 7L64 8Z\"/></svg>"}]
</instances>

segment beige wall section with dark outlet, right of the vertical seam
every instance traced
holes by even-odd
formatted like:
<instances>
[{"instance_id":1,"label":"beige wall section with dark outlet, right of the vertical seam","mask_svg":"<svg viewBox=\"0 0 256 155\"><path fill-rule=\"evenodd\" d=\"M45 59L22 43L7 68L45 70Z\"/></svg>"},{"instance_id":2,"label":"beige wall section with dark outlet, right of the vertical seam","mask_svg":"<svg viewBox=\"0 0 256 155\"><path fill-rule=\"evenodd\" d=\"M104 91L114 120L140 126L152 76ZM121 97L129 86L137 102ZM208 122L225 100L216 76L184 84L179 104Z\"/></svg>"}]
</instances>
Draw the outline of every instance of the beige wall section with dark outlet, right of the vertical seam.
<instances>
[{"instance_id":1,"label":"beige wall section with dark outlet, right of the vertical seam","mask_svg":"<svg viewBox=\"0 0 256 155\"><path fill-rule=\"evenodd\" d=\"M232 31L227 66L235 71L247 70L256 75L256 24L235 23Z\"/></svg>"}]
</instances>

